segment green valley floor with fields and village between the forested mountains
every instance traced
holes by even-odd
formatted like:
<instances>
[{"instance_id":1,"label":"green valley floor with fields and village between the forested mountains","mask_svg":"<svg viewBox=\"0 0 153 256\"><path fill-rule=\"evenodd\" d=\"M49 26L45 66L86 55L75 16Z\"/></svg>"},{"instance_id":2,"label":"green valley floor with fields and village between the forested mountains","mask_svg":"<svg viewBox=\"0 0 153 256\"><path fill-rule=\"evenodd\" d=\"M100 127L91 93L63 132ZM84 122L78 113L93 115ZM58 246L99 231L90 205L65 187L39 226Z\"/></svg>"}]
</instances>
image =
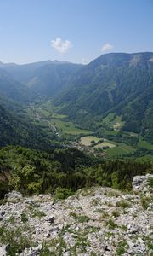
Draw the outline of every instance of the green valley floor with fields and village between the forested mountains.
<instances>
[{"instance_id":1,"label":"green valley floor with fields and village between the forested mountains","mask_svg":"<svg viewBox=\"0 0 153 256\"><path fill-rule=\"evenodd\" d=\"M59 107L55 106L52 100L32 105L26 112L33 120L33 125L48 131L48 134L54 134L54 140L59 144L64 143L68 148L75 147L94 154L99 154L99 150L103 150L103 157L106 159L130 159L134 158L135 154L147 158L148 154L152 154L151 144L142 141L143 137L133 132L122 131L124 121L122 116L116 113L108 113L104 118L95 118L95 125L86 126L77 124L69 116L59 113Z\"/></svg>"}]
</instances>

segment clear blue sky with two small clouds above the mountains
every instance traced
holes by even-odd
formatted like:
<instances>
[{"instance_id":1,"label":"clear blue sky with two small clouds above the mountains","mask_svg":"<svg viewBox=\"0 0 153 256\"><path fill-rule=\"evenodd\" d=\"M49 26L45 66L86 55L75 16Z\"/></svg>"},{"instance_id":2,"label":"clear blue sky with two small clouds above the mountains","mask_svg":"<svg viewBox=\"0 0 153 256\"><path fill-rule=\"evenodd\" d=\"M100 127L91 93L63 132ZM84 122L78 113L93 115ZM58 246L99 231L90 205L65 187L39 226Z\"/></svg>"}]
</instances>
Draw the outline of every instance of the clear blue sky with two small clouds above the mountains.
<instances>
[{"instance_id":1,"label":"clear blue sky with two small clouds above the mountains","mask_svg":"<svg viewBox=\"0 0 153 256\"><path fill-rule=\"evenodd\" d=\"M152 0L0 0L0 61L153 51Z\"/></svg>"}]
</instances>

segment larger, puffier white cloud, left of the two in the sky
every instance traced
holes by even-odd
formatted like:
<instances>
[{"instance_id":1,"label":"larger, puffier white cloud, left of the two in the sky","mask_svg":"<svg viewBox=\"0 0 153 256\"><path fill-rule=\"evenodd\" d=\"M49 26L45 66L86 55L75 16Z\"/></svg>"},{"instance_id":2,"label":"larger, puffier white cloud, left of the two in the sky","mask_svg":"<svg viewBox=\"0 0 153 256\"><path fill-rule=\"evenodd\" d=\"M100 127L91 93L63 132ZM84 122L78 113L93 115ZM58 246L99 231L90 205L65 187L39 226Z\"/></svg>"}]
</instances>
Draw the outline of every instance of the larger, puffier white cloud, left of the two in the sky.
<instances>
[{"instance_id":1,"label":"larger, puffier white cloud, left of the two in the sky","mask_svg":"<svg viewBox=\"0 0 153 256\"><path fill-rule=\"evenodd\" d=\"M68 49L72 47L71 41L62 40L61 38L56 38L51 41L51 45L54 49L58 50L60 53L65 53Z\"/></svg>"}]
</instances>

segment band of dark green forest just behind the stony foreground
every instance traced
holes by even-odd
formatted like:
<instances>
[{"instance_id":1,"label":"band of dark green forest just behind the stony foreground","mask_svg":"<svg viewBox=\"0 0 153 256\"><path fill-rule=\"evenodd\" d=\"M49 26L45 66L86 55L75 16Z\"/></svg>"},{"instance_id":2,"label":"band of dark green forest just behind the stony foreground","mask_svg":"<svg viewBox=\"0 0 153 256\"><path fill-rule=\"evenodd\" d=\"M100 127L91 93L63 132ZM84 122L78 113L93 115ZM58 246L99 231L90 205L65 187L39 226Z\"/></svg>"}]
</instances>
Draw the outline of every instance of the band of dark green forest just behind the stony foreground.
<instances>
[{"instance_id":1,"label":"band of dark green forest just behind the stony foreground","mask_svg":"<svg viewBox=\"0 0 153 256\"><path fill-rule=\"evenodd\" d=\"M16 189L23 195L51 192L63 199L96 184L128 190L135 175L152 170L150 162L104 161L72 148L42 152L9 146L0 149L0 197Z\"/></svg>"}]
</instances>

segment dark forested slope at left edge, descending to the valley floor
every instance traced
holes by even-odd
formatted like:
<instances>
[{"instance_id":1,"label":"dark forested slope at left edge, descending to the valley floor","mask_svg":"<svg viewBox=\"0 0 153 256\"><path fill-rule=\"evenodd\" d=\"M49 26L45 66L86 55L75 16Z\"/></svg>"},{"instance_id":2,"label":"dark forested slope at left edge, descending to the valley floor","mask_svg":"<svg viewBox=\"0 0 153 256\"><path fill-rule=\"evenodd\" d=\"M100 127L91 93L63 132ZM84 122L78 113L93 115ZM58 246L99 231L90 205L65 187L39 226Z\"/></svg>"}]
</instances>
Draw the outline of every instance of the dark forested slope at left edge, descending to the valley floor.
<instances>
[{"instance_id":1,"label":"dark forested slope at left edge, descending to the valley floor","mask_svg":"<svg viewBox=\"0 0 153 256\"><path fill-rule=\"evenodd\" d=\"M20 108L19 108L20 109ZM20 116L15 111L3 108L0 101L0 147L21 145L28 148L47 149L53 145L54 135L47 134L31 119Z\"/></svg>"}]
</instances>

